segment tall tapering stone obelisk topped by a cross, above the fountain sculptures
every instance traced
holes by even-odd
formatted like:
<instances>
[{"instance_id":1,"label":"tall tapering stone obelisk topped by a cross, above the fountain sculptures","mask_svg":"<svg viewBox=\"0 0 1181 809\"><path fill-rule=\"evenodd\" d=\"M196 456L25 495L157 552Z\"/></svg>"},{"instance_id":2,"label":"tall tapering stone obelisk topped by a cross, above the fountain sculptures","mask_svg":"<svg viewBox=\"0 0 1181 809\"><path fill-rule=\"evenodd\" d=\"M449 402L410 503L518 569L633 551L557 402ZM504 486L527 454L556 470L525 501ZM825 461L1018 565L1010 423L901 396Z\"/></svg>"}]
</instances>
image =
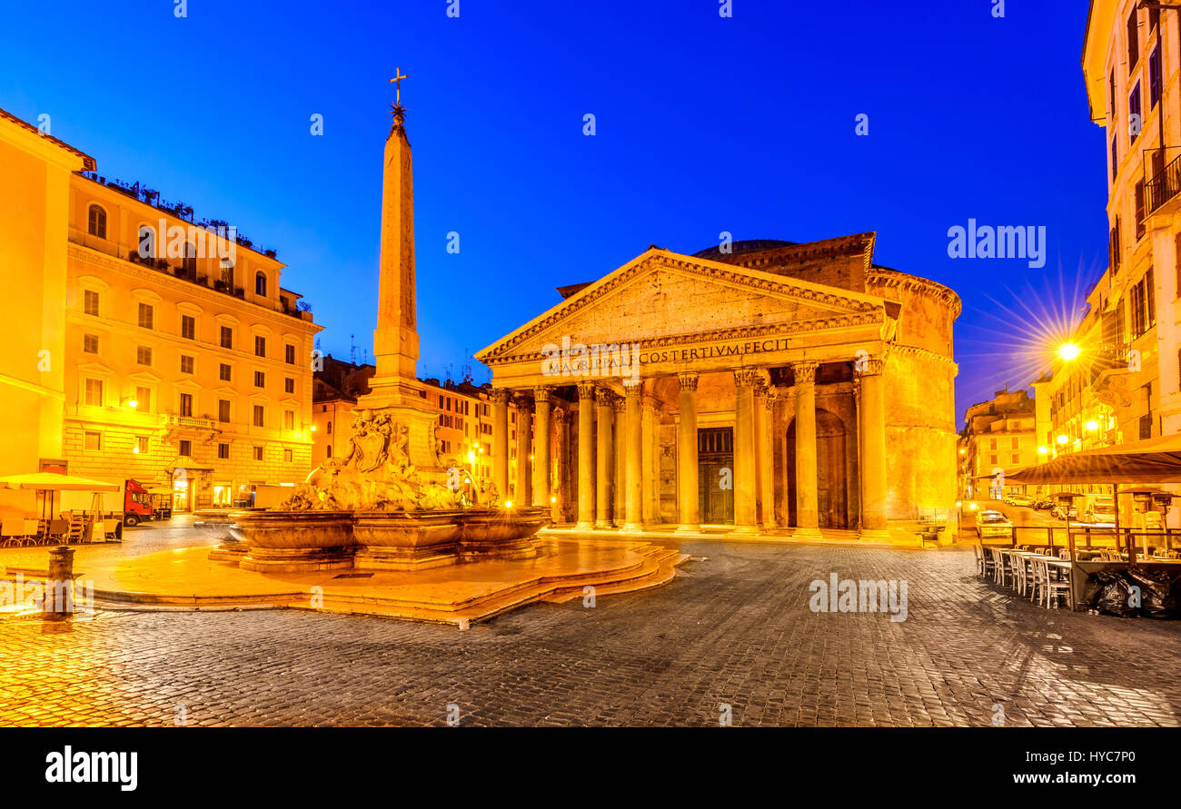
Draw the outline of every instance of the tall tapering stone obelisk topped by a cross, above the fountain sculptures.
<instances>
[{"instance_id":1,"label":"tall tapering stone obelisk topped by a cross, above the fountain sculptures","mask_svg":"<svg viewBox=\"0 0 1181 809\"><path fill-rule=\"evenodd\" d=\"M377 371L370 379L371 392L359 397L358 409L389 411L409 428L406 448L411 462L423 471L437 469L435 445L436 415L422 396L418 381L418 318L415 294L415 180L406 111L402 106L402 76L398 100L391 105L393 125L385 139L385 169L381 182L381 256L378 281L377 330L373 357Z\"/></svg>"}]
</instances>

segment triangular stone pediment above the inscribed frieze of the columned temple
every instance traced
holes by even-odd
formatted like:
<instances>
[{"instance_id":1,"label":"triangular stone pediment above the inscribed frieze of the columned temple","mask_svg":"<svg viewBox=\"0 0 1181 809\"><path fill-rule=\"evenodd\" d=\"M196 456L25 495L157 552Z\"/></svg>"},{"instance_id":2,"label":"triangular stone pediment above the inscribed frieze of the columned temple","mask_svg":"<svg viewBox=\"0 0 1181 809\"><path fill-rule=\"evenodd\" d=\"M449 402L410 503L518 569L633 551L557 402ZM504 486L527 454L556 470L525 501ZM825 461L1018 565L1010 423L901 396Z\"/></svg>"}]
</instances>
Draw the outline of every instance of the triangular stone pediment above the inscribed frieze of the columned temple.
<instances>
[{"instance_id":1,"label":"triangular stone pediment above the inscribed frieze of the columned temple","mask_svg":"<svg viewBox=\"0 0 1181 809\"><path fill-rule=\"evenodd\" d=\"M653 248L476 354L666 341L735 330L822 331L885 317L880 298Z\"/></svg>"}]
</instances>

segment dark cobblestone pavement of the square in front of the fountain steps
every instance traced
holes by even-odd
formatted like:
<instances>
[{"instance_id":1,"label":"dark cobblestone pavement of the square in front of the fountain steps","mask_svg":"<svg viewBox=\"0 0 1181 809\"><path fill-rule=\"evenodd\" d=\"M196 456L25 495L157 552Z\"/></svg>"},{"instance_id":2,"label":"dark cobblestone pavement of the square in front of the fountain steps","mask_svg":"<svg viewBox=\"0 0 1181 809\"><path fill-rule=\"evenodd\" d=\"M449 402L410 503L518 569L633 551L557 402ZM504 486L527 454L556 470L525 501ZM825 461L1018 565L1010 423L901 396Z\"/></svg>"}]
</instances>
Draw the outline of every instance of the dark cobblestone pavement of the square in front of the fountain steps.
<instances>
[{"instance_id":1,"label":"dark cobblestone pavement of the square in front of the fountain steps","mask_svg":"<svg viewBox=\"0 0 1181 809\"><path fill-rule=\"evenodd\" d=\"M664 587L468 632L299 611L0 620L0 724L444 725L451 704L464 725L717 726L723 704L739 726L1181 724L1179 622L1040 609L964 550L683 550ZM906 621L813 613L809 582L834 572L906 580Z\"/></svg>"}]
</instances>

